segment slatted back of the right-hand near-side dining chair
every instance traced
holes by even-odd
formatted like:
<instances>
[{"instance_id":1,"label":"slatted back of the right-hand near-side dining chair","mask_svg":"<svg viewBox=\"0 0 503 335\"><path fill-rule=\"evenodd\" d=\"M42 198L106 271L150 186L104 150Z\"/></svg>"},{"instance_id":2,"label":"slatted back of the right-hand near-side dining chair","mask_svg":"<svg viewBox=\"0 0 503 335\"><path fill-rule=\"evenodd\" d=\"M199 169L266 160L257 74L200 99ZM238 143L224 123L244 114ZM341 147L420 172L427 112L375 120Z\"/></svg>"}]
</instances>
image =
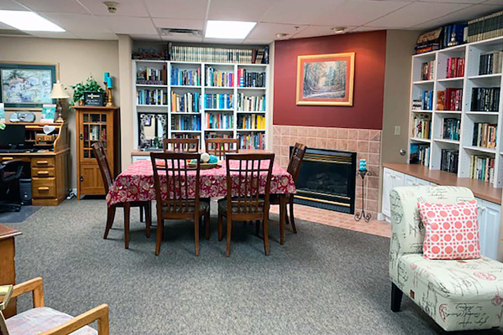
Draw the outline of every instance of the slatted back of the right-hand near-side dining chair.
<instances>
[{"instance_id":1,"label":"slatted back of the right-hand near-side dining chair","mask_svg":"<svg viewBox=\"0 0 503 335\"><path fill-rule=\"evenodd\" d=\"M234 167L231 162L237 162ZM269 191L274 164L274 154L227 154L227 212L264 213L269 208ZM267 173L267 174L266 174ZM264 174L266 174L264 176ZM266 178L265 192L261 194L261 179ZM232 184L237 184L237 194L232 194ZM235 188L235 187L234 187ZM235 210L232 211L232 208Z\"/></svg>"}]
</instances>

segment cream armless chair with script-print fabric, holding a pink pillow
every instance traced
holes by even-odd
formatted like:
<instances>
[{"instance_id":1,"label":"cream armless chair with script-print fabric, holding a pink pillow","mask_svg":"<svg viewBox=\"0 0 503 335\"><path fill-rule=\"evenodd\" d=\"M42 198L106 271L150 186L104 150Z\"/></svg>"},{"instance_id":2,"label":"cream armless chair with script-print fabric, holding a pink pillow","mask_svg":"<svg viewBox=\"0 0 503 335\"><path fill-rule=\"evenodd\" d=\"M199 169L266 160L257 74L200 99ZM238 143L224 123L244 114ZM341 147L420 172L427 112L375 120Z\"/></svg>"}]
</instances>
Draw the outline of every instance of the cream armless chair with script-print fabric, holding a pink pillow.
<instances>
[{"instance_id":1,"label":"cream armless chair with script-print fabric, holding a pink pillow","mask_svg":"<svg viewBox=\"0 0 503 335\"><path fill-rule=\"evenodd\" d=\"M399 311L405 293L447 331L502 325L503 264L486 257L431 260L422 253L425 228L417 202L453 204L472 199L473 193L465 187L404 186L391 190L392 311Z\"/></svg>"}]
</instances>

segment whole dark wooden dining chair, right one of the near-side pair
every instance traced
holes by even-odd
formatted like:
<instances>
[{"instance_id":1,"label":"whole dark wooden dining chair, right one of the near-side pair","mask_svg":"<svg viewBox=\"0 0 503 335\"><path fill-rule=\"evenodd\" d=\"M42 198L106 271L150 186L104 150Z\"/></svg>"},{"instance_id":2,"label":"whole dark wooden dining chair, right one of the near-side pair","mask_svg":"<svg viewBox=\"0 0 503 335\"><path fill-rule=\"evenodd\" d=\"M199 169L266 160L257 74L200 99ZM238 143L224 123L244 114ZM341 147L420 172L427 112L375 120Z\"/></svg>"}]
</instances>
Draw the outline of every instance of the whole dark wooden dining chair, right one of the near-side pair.
<instances>
[{"instance_id":1,"label":"whole dark wooden dining chair, right one of the near-side pair","mask_svg":"<svg viewBox=\"0 0 503 335\"><path fill-rule=\"evenodd\" d=\"M235 167L231 162L237 162ZM227 218L227 246L230 256L232 220L262 220L264 251L269 256L269 191L274 164L274 154L227 154L227 196L218 202L218 241L222 241L223 217ZM232 166L231 166L232 165ZM267 173L267 174L266 174ZM264 174L266 174L264 176ZM266 178L264 193L260 180ZM234 192L232 192L234 190Z\"/></svg>"}]
</instances>

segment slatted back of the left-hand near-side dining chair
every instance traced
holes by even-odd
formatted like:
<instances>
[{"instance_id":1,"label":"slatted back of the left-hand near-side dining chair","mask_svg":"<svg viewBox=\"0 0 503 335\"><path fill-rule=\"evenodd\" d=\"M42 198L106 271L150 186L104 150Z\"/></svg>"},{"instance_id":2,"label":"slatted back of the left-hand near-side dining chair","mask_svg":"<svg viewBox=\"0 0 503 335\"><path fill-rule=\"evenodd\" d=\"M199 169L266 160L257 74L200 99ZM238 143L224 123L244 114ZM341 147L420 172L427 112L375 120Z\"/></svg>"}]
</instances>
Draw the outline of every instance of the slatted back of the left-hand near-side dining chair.
<instances>
[{"instance_id":1,"label":"slatted back of the left-hand near-side dining chair","mask_svg":"<svg viewBox=\"0 0 503 335\"><path fill-rule=\"evenodd\" d=\"M188 160L197 160L196 168L190 168ZM154 176L157 211L162 214L195 213L199 215L199 153L150 153ZM196 171L195 176L189 171ZM164 177L165 176L165 177ZM194 197L190 189L195 188ZM193 209L193 210L192 210Z\"/></svg>"}]
</instances>

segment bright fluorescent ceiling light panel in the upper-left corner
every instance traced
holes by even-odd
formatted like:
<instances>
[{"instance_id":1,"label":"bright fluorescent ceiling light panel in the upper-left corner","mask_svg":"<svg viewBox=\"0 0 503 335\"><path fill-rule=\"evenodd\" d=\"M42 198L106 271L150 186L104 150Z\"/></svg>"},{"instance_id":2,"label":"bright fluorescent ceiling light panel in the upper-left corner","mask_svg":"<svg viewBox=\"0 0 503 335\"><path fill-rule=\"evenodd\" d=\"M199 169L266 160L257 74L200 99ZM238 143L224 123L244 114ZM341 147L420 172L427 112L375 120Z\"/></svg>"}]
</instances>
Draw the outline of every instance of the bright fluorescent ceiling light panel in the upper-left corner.
<instances>
[{"instance_id":1,"label":"bright fluorescent ceiling light panel in the upper-left corner","mask_svg":"<svg viewBox=\"0 0 503 335\"><path fill-rule=\"evenodd\" d=\"M0 11L0 22L24 31L64 32L58 25L27 11Z\"/></svg>"}]
</instances>

